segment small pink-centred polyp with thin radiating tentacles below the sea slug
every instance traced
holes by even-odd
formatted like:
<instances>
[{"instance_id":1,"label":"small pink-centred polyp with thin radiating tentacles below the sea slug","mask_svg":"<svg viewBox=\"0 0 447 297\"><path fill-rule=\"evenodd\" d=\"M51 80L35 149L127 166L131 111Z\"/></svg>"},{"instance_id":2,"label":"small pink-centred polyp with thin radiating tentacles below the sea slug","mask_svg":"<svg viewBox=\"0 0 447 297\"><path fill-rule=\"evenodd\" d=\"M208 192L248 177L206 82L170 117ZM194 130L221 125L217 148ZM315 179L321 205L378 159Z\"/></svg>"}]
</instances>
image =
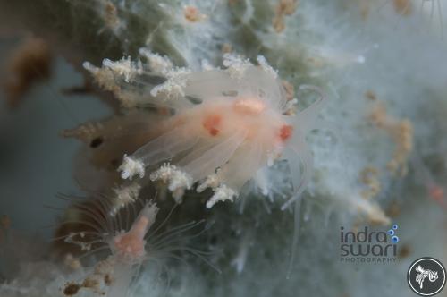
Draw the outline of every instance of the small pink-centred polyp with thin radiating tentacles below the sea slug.
<instances>
[{"instance_id":1,"label":"small pink-centred polyp with thin radiating tentacles below the sea slug","mask_svg":"<svg viewBox=\"0 0 447 297\"><path fill-rule=\"evenodd\" d=\"M151 200L139 199L117 212L111 202L103 196L76 202L72 210L77 218L63 221L63 225L77 226L83 231L67 233L56 240L79 246L85 252L80 259L96 260L95 266L87 268L80 280L65 284L65 295L72 296L86 289L108 297L128 296L141 268L151 267L148 262L158 267L162 259L181 259L181 253L190 253L214 267L206 259L209 253L185 243L205 231L189 233L204 221L169 228L167 224L174 208L156 224L159 208Z\"/></svg>"}]
</instances>

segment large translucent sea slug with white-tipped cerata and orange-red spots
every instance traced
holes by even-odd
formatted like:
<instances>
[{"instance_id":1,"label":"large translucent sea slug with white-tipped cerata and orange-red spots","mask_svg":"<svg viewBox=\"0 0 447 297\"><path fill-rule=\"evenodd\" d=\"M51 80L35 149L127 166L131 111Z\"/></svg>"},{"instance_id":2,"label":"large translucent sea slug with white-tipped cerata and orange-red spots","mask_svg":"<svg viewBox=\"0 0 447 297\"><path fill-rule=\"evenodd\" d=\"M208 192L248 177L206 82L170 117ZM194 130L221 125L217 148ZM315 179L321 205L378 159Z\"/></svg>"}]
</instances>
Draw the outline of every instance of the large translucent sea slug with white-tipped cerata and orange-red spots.
<instances>
[{"instance_id":1,"label":"large translucent sea slug with white-tipped cerata and orange-red spots","mask_svg":"<svg viewBox=\"0 0 447 297\"><path fill-rule=\"evenodd\" d=\"M190 71L174 68L167 58L145 49L140 53L148 64L124 58L106 59L102 68L84 65L123 106L164 106L173 111L145 128L157 130L156 138L124 155L118 168L123 179L148 176L153 182L166 182L179 201L185 190L211 188L211 208L238 197L246 182L257 180L261 168L285 159L293 194L283 208L299 197L312 168L305 135L325 101L319 89L301 86L319 98L296 113L297 100L287 96L263 56L253 65L237 55L224 55L224 69L203 63L202 69ZM153 83L154 76L164 81Z\"/></svg>"}]
</instances>

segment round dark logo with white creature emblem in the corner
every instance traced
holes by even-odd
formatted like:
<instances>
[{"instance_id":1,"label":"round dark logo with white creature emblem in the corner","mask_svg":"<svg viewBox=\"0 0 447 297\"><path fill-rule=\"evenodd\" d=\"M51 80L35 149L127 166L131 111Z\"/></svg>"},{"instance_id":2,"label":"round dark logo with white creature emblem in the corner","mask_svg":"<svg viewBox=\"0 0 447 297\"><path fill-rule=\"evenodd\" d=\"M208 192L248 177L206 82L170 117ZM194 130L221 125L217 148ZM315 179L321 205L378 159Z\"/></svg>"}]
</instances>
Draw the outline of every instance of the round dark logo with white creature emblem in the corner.
<instances>
[{"instance_id":1,"label":"round dark logo with white creature emblem in the corner","mask_svg":"<svg viewBox=\"0 0 447 297\"><path fill-rule=\"evenodd\" d=\"M443 290L445 268L434 258L421 258L411 264L407 279L409 287L421 296L434 296Z\"/></svg>"}]
</instances>

